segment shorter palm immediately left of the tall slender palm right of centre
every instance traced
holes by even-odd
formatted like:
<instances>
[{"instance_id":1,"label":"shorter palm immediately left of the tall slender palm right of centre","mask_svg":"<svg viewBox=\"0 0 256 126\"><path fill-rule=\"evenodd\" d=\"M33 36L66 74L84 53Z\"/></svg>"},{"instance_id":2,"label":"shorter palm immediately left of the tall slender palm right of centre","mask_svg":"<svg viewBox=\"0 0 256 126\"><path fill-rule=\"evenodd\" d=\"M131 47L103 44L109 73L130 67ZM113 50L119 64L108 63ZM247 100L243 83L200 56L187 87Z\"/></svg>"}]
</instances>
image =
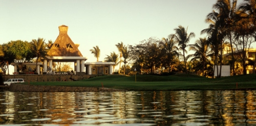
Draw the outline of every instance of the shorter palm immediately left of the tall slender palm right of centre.
<instances>
[{"instance_id":1,"label":"shorter palm immediately left of the tall slender palm right of centre","mask_svg":"<svg viewBox=\"0 0 256 126\"><path fill-rule=\"evenodd\" d=\"M169 72L172 71L172 60L174 58L174 56L178 56L178 47L176 46L176 44L178 44L177 41L174 40L175 36L172 35L170 36L169 39L165 39L162 38L163 42L161 42L161 44L163 45L163 49L166 52L166 59L165 61L168 62L168 67L169 67Z\"/></svg>"}]
</instances>

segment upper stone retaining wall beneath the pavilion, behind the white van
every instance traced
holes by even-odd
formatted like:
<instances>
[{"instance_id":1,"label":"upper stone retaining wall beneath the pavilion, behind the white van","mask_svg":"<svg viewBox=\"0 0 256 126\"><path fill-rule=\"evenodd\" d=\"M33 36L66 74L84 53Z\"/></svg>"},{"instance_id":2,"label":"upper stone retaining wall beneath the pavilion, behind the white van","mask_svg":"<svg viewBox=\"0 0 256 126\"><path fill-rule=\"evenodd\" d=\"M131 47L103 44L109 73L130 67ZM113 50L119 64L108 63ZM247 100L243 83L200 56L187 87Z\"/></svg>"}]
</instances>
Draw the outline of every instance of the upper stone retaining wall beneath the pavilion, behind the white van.
<instances>
[{"instance_id":1,"label":"upper stone retaining wall beneath the pavilion, behind the white van","mask_svg":"<svg viewBox=\"0 0 256 126\"><path fill-rule=\"evenodd\" d=\"M65 74L16 74L16 75L3 75L3 80L8 79L24 79L25 82L52 82L52 81L73 81L74 80L84 80L97 75L88 74L76 74L76 75L65 75Z\"/></svg>"}]
</instances>

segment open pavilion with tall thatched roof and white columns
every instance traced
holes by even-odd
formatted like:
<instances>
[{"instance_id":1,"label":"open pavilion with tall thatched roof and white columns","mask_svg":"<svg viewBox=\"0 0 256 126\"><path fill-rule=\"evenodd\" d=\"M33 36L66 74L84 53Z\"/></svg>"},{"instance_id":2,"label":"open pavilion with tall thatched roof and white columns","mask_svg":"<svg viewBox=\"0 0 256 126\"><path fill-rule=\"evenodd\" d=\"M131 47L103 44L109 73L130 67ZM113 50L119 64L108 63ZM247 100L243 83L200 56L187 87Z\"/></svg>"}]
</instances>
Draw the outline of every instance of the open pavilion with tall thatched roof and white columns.
<instances>
[{"instance_id":1,"label":"open pavilion with tall thatched roof and white columns","mask_svg":"<svg viewBox=\"0 0 256 126\"><path fill-rule=\"evenodd\" d=\"M53 44L49 44L47 57L41 59L44 62L44 71L52 73L53 62L74 62L76 72L85 72L84 61L87 60L80 53L78 46L74 44L68 35L68 26L59 26L59 35ZM49 66L48 66L49 64ZM50 68L50 69L49 69Z\"/></svg>"}]
</instances>

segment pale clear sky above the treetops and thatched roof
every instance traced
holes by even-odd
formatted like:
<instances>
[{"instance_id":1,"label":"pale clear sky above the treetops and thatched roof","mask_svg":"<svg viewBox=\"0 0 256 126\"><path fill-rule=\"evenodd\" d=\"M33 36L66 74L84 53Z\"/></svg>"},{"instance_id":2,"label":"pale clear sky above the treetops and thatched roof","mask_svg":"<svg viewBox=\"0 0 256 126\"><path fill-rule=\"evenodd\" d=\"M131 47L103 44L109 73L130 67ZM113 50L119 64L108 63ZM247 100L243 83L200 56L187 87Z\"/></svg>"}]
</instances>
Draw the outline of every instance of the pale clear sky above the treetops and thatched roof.
<instances>
[{"instance_id":1,"label":"pale clear sky above the treetops and thatched roof","mask_svg":"<svg viewBox=\"0 0 256 126\"><path fill-rule=\"evenodd\" d=\"M242 0L240 0L242 2ZM240 2L239 1L239 2ZM136 45L156 37L167 38L179 25L188 27L196 37L208 28L206 15L217 0L0 0L0 44L11 40L31 41L38 37L53 42L58 27L69 27L68 35L86 62L96 62L90 49L98 45L99 61L111 52L118 53L115 44Z\"/></svg>"}]
</instances>

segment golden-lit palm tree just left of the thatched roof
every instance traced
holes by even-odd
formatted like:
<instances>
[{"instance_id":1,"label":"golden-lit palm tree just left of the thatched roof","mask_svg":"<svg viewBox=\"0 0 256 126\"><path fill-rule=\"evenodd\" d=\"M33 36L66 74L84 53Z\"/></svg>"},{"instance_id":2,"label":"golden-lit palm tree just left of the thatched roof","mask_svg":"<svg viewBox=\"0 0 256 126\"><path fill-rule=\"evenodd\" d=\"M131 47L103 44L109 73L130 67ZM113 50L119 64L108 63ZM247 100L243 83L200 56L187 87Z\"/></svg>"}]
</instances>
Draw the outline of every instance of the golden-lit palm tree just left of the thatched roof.
<instances>
[{"instance_id":1,"label":"golden-lit palm tree just left of the thatched roof","mask_svg":"<svg viewBox=\"0 0 256 126\"><path fill-rule=\"evenodd\" d=\"M39 58L45 58L47 56L47 46L43 38L33 39L31 41L31 51L36 56L36 66ZM37 71L37 67L35 67L35 71Z\"/></svg>"}]
</instances>

